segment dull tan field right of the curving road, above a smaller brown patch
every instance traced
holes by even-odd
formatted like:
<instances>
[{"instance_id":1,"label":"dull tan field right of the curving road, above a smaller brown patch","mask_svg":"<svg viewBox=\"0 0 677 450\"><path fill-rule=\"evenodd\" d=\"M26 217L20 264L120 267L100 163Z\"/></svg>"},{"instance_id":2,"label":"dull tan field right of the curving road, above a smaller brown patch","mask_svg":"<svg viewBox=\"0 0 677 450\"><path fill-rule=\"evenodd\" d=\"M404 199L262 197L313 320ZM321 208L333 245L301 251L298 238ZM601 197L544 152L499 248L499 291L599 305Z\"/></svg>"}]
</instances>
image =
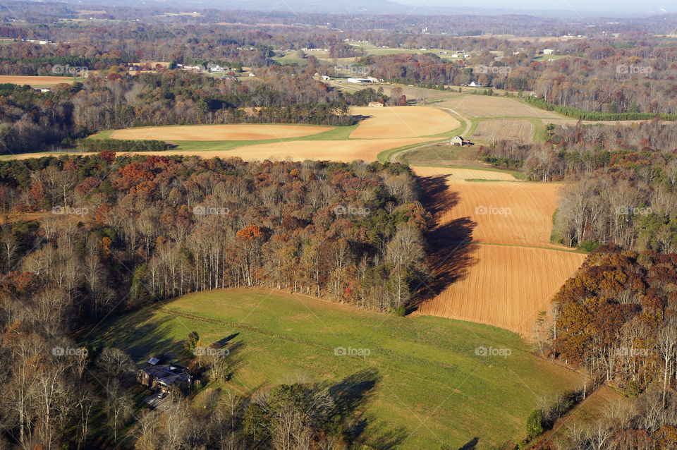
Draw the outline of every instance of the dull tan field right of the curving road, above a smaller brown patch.
<instances>
[{"instance_id":1,"label":"dull tan field right of the curving road, above a smaller brown patch","mask_svg":"<svg viewBox=\"0 0 677 450\"><path fill-rule=\"evenodd\" d=\"M461 95L437 106L455 109L475 117L562 118L559 114L532 107L516 99L488 95Z\"/></svg>"}]
</instances>

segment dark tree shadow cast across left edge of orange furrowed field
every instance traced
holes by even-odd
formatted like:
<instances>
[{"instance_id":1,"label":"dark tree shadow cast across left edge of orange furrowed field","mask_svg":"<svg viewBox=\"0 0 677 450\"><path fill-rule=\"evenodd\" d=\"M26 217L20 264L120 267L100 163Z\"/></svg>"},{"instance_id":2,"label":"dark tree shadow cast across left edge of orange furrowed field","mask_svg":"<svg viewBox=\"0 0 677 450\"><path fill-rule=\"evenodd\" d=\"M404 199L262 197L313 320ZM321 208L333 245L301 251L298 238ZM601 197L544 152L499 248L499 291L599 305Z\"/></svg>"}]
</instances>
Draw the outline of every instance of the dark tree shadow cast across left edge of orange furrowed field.
<instances>
[{"instance_id":1,"label":"dark tree shadow cast across left edge of orange furrowed field","mask_svg":"<svg viewBox=\"0 0 677 450\"><path fill-rule=\"evenodd\" d=\"M472 230L477 224L469 217L459 217L440 225L441 217L458 205L458 193L446 184L446 176L419 178L423 189L423 205L431 212L434 225L426 234L429 255L429 281L418 289L410 305L412 312L427 300L444 292L452 283L467 276L477 264L478 245L472 243Z\"/></svg>"}]
</instances>

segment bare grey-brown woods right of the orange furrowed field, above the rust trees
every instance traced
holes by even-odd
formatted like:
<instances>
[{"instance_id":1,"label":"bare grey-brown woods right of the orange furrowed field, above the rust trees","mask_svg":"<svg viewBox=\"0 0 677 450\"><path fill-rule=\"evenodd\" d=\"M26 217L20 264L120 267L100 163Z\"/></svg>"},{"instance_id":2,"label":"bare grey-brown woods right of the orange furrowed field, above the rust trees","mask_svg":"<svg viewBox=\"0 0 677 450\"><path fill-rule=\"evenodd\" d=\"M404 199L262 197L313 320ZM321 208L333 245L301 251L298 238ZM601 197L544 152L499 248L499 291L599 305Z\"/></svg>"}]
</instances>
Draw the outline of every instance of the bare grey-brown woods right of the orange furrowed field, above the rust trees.
<instances>
[{"instance_id":1,"label":"bare grey-brown woods right of the orange furrowed field, above the rust trees","mask_svg":"<svg viewBox=\"0 0 677 450\"><path fill-rule=\"evenodd\" d=\"M548 126L547 142L496 140L489 164L523 169L532 181L566 181L553 238L594 248L677 250L677 126L657 119L633 126Z\"/></svg>"}]
</instances>

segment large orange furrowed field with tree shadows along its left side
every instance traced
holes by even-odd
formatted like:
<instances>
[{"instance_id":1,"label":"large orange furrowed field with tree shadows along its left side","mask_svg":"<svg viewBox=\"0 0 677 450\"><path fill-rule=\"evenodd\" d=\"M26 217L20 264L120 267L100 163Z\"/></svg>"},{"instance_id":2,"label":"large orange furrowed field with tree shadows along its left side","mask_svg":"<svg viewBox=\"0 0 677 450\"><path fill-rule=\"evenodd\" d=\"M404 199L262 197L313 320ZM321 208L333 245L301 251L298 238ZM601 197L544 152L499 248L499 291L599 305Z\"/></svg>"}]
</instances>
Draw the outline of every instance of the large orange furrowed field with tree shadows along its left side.
<instances>
[{"instance_id":1,"label":"large orange furrowed field with tree shadows along its left side","mask_svg":"<svg viewBox=\"0 0 677 450\"><path fill-rule=\"evenodd\" d=\"M433 295L416 314L532 334L537 312L585 259L549 242L559 186L497 171L414 169L437 224L429 238L438 244L430 257Z\"/></svg>"}]
</instances>

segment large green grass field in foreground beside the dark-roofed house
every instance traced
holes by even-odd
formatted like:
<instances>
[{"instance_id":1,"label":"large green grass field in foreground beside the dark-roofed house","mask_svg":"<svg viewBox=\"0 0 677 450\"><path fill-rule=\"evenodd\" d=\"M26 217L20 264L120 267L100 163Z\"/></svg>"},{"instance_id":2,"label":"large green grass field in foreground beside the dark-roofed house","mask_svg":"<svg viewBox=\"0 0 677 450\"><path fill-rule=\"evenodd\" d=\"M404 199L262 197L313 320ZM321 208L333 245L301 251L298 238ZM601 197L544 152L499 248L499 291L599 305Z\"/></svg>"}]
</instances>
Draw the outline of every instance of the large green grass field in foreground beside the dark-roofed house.
<instances>
[{"instance_id":1,"label":"large green grass field in foreground beside the dark-roofed house","mask_svg":"<svg viewBox=\"0 0 677 450\"><path fill-rule=\"evenodd\" d=\"M207 387L221 388L226 399L229 391L248 395L290 379L343 381L341 390L349 379L367 386L358 406L365 428L356 439L365 448L458 449L473 439L477 449L514 444L541 399L580 385L578 374L535 357L504 329L382 315L282 291L189 294L109 320L86 341L142 361L183 354L192 331L205 345L230 337L233 380ZM370 354L336 355L338 347ZM510 348L511 355L477 355L478 347Z\"/></svg>"}]
</instances>

